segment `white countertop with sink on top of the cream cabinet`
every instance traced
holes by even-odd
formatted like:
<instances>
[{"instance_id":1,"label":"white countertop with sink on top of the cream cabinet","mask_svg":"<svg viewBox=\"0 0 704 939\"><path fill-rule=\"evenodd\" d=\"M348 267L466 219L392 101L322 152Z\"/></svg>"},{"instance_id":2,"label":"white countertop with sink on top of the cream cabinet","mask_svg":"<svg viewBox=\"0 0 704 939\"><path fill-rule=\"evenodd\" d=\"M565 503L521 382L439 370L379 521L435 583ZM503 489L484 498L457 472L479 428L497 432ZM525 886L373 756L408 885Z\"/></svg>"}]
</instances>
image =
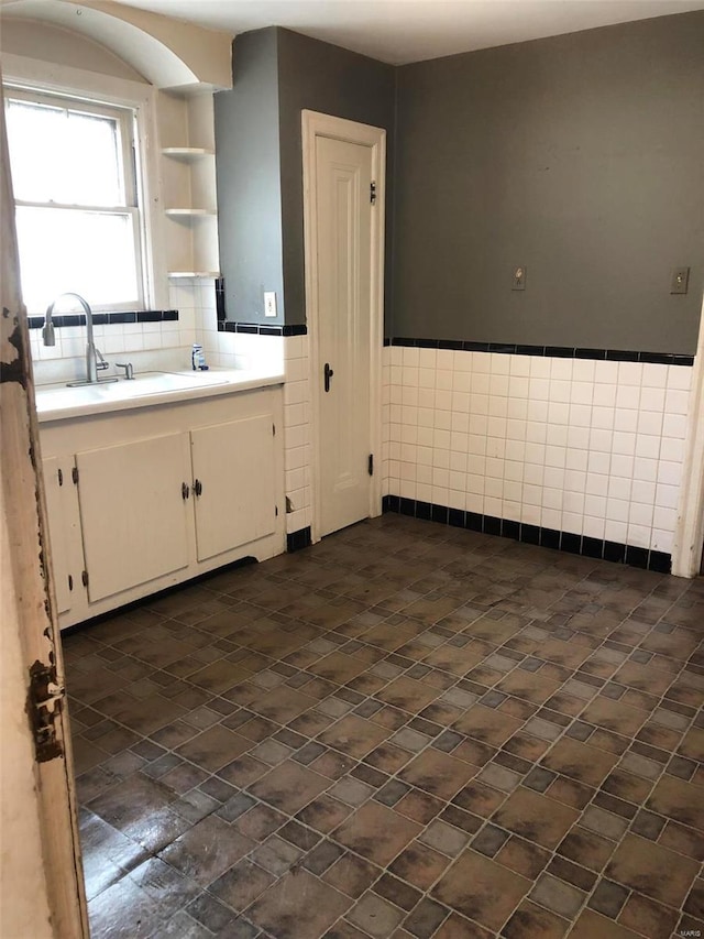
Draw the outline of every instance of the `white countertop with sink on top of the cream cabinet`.
<instances>
[{"instance_id":1,"label":"white countertop with sink on top of the cream cabinet","mask_svg":"<svg viewBox=\"0 0 704 939\"><path fill-rule=\"evenodd\" d=\"M283 374L239 369L209 369L206 372L135 372L134 379L68 387L66 384L37 385L36 413L40 424L66 421L111 411L129 411L175 404L197 397L234 394L282 384Z\"/></svg>"}]
</instances>

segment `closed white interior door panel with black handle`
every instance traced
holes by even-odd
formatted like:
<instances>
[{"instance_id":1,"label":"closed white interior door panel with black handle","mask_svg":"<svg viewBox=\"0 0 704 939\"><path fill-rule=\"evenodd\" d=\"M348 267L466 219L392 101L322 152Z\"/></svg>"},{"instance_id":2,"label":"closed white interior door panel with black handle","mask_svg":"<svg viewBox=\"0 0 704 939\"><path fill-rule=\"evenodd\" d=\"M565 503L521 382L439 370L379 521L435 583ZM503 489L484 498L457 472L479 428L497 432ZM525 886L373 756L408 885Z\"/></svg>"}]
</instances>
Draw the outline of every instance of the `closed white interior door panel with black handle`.
<instances>
[{"instance_id":1,"label":"closed white interior door panel with black handle","mask_svg":"<svg viewBox=\"0 0 704 939\"><path fill-rule=\"evenodd\" d=\"M316 137L320 535L370 514L372 148Z\"/></svg>"}]
</instances>

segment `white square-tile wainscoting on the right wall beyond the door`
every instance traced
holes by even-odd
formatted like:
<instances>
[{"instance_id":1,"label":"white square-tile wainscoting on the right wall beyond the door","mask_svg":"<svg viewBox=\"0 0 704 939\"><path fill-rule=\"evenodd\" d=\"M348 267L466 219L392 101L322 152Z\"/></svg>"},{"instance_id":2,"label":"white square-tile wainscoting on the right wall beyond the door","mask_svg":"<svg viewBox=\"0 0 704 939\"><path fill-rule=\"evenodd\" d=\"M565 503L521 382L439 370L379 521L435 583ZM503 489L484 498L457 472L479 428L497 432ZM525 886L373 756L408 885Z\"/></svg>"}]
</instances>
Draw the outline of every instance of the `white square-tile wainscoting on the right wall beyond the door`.
<instances>
[{"instance_id":1,"label":"white square-tile wainscoting on the right wall beyond the door","mask_svg":"<svg viewBox=\"0 0 704 939\"><path fill-rule=\"evenodd\" d=\"M692 369L384 349L384 494L671 553Z\"/></svg>"}]
</instances>

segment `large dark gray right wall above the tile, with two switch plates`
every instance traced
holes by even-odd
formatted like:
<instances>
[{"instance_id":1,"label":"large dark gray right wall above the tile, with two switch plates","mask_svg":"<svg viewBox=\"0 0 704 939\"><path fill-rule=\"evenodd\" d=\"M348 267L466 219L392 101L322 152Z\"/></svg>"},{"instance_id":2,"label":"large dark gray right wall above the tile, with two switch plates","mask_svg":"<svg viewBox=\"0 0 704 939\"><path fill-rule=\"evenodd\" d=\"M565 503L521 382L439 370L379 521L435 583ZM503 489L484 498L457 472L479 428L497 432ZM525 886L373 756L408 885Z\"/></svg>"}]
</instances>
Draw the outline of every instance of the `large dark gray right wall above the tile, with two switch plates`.
<instances>
[{"instance_id":1,"label":"large dark gray right wall above the tile, with two switch plates","mask_svg":"<svg viewBox=\"0 0 704 939\"><path fill-rule=\"evenodd\" d=\"M397 75L393 335L694 352L703 13Z\"/></svg>"}]
</instances>

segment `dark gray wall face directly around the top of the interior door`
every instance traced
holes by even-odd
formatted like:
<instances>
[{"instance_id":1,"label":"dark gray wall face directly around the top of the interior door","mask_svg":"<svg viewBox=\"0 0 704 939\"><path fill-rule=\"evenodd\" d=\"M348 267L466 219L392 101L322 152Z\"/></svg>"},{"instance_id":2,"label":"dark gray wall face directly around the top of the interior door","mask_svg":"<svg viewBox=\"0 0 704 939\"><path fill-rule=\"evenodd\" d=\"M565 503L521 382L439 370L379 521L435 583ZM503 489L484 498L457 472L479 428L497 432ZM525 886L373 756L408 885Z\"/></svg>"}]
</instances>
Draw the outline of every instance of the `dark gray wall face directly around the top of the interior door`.
<instances>
[{"instance_id":1,"label":"dark gray wall face directly around the top of the interior door","mask_svg":"<svg viewBox=\"0 0 704 939\"><path fill-rule=\"evenodd\" d=\"M282 218L286 321L305 323L300 113L305 109L384 128L387 145L386 306L391 308L395 68L363 55L278 31Z\"/></svg>"}]
</instances>

